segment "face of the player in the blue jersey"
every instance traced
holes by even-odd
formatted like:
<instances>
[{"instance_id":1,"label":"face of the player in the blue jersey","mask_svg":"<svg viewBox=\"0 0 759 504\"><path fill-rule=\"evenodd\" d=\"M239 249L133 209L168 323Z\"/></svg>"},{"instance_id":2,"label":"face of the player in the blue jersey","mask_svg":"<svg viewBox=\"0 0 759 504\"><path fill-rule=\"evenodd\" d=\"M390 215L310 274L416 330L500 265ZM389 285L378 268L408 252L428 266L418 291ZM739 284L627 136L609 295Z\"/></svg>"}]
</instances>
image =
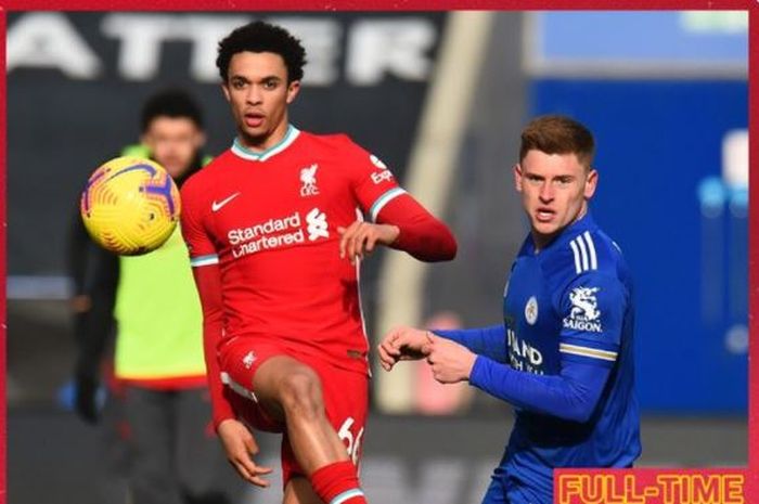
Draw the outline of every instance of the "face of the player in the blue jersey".
<instances>
[{"instance_id":1,"label":"face of the player in the blue jersey","mask_svg":"<svg viewBox=\"0 0 759 504\"><path fill-rule=\"evenodd\" d=\"M538 247L586 214L597 180L597 172L583 167L575 154L527 152L514 167L514 181Z\"/></svg>"}]
</instances>

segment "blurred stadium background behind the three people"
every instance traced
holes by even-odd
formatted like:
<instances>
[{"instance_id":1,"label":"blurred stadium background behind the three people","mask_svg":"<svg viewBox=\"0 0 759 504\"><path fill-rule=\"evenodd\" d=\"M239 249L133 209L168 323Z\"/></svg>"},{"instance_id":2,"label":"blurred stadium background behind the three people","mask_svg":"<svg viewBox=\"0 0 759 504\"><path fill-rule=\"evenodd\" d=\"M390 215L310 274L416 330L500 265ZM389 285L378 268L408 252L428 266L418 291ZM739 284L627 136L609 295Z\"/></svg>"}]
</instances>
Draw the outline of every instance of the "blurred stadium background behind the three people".
<instances>
[{"instance_id":1,"label":"blurred stadium background behind the three people","mask_svg":"<svg viewBox=\"0 0 759 504\"><path fill-rule=\"evenodd\" d=\"M203 104L208 152L226 148L234 132L215 43L253 17L9 14L9 502L94 503L95 441L61 400L73 365L65 234L86 177L136 139L142 100L167 85ZM745 13L261 17L309 49L294 122L349 132L459 237L450 264L382 253L366 262L374 337L399 322L499 321L526 231L510 172L518 131L535 114L571 114L597 137L595 218L635 273L641 465L746 464ZM441 391L421 366L377 373L374 386L370 497L478 502L510 410L465 388ZM263 444L273 463L274 440ZM250 493L246 502L276 502Z\"/></svg>"}]
</instances>

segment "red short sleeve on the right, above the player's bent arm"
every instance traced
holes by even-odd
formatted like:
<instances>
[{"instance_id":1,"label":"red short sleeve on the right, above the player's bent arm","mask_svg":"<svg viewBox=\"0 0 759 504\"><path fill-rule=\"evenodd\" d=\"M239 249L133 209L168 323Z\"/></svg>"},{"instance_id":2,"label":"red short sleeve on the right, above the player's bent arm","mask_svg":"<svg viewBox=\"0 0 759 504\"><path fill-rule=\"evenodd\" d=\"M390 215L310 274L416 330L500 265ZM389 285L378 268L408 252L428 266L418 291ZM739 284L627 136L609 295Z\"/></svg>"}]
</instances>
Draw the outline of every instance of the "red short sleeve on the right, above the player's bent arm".
<instances>
[{"instance_id":1,"label":"red short sleeve on the right, above the player's bent arm","mask_svg":"<svg viewBox=\"0 0 759 504\"><path fill-rule=\"evenodd\" d=\"M406 194L390 169L374 154L371 154L345 138L345 159L351 190L361 209L371 220L376 217L385 205L396 197Z\"/></svg>"}]
</instances>

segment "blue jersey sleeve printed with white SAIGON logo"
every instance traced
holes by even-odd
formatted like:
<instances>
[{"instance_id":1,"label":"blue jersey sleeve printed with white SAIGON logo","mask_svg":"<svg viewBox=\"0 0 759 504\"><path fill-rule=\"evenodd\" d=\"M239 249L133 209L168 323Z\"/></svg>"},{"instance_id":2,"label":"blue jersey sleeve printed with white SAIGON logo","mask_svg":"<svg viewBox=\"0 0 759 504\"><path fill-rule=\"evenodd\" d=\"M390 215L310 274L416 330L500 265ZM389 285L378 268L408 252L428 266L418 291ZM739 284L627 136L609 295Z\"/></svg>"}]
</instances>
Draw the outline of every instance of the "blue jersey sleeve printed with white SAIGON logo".
<instances>
[{"instance_id":1,"label":"blue jersey sleeve printed with white SAIGON logo","mask_svg":"<svg viewBox=\"0 0 759 504\"><path fill-rule=\"evenodd\" d=\"M612 367L629 305L625 285L608 273L592 271L573 280L557 305L562 316L562 362Z\"/></svg>"}]
</instances>

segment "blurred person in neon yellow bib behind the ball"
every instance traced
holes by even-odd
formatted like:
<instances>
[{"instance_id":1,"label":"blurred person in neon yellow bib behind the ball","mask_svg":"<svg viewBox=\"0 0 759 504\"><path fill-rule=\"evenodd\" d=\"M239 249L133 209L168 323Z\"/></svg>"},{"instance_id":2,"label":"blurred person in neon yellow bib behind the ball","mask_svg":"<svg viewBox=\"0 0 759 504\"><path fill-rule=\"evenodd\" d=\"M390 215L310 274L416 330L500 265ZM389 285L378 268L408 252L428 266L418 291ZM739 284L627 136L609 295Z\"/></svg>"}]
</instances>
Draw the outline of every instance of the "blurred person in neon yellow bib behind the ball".
<instances>
[{"instance_id":1,"label":"blurred person in neon yellow bib behind the ball","mask_svg":"<svg viewBox=\"0 0 759 504\"><path fill-rule=\"evenodd\" d=\"M182 90L150 96L141 130L140 143L120 155L152 158L180 188L209 161L200 107ZM201 305L179 228L157 250L134 257L100 248L92 255L94 245L80 233L78 221L72 243L88 256L75 271L92 287L77 287L74 302L77 412L98 419L99 371L115 322L113 372L121 390L107 402L119 403L115 421L126 425L118 430L128 448L129 502L231 502L219 479L226 464L210 424Z\"/></svg>"}]
</instances>

